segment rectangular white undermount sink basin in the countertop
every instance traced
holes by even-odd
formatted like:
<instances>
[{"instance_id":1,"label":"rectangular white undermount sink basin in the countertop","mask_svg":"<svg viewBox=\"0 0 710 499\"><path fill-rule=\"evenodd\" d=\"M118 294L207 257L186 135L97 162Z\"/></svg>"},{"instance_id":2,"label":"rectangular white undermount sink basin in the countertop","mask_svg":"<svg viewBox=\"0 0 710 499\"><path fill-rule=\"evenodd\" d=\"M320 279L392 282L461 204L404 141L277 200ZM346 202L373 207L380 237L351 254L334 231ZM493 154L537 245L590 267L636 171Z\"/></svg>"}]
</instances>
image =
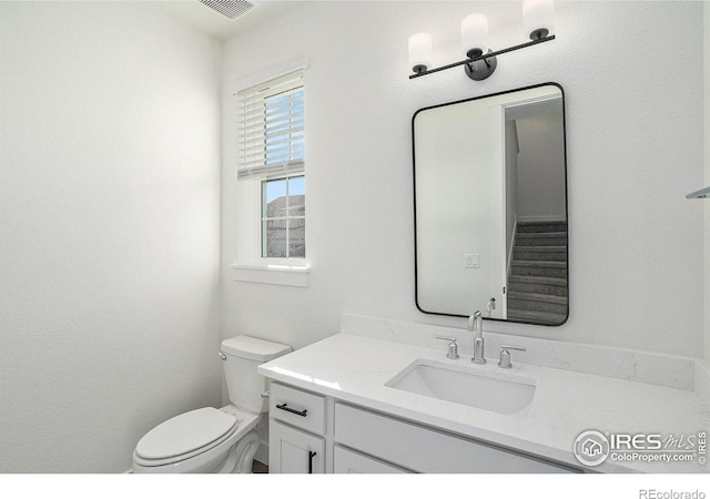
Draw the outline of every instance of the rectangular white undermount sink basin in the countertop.
<instances>
[{"instance_id":1,"label":"rectangular white undermount sink basin in the countertop","mask_svg":"<svg viewBox=\"0 0 710 499\"><path fill-rule=\"evenodd\" d=\"M535 396L534 379L428 359L415 360L385 386L499 414L517 413Z\"/></svg>"}]
</instances>

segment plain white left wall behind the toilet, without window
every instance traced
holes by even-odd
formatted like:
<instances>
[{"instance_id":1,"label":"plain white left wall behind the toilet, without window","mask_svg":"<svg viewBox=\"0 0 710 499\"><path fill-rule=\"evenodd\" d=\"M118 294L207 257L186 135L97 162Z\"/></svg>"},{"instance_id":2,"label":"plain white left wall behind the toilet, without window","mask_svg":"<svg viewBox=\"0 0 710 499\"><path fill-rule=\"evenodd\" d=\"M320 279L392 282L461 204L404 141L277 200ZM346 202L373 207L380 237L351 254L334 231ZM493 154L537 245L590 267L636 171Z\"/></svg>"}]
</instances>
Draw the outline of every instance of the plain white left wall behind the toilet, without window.
<instances>
[{"instance_id":1,"label":"plain white left wall behind the toilet, without window","mask_svg":"<svg viewBox=\"0 0 710 499\"><path fill-rule=\"evenodd\" d=\"M142 2L0 2L0 472L123 472L221 401L221 47Z\"/></svg>"}]
</instances>

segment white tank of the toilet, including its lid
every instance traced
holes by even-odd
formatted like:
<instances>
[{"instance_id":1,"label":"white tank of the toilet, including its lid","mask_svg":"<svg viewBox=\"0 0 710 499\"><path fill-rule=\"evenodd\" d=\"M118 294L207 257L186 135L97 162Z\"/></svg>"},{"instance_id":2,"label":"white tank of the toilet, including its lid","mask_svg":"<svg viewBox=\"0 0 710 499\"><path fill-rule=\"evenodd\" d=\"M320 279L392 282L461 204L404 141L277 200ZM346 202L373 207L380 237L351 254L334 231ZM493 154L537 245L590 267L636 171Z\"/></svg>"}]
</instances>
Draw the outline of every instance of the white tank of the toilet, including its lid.
<instances>
[{"instance_id":1,"label":"white tank of the toilet, including its lid","mask_svg":"<svg viewBox=\"0 0 710 499\"><path fill-rule=\"evenodd\" d=\"M256 374L256 366L291 352L287 345L251 336L235 336L222 342L224 377L230 401L247 413L266 413L266 378Z\"/></svg>"}]
</instances>

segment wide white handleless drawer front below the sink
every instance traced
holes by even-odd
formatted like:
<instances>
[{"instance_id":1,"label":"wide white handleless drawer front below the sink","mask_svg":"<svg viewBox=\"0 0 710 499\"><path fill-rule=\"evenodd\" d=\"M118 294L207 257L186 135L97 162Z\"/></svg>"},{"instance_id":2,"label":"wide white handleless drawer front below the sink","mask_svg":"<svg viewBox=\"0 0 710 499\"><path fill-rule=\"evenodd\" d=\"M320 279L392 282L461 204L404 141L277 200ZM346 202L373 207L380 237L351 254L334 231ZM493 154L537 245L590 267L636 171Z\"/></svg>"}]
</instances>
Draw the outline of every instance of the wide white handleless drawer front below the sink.
<instances>
[{"instance_id":1,"label":"wide white handleless drawer front below the sink","mask_svg":"<svg viewBox=\"0 0 710 499\"><path fill-rule=\"evenodd\" d=\"M335 441L384 461L426 473L577 471L342 403L335 405Z\"/></svg>"}]
</instances>

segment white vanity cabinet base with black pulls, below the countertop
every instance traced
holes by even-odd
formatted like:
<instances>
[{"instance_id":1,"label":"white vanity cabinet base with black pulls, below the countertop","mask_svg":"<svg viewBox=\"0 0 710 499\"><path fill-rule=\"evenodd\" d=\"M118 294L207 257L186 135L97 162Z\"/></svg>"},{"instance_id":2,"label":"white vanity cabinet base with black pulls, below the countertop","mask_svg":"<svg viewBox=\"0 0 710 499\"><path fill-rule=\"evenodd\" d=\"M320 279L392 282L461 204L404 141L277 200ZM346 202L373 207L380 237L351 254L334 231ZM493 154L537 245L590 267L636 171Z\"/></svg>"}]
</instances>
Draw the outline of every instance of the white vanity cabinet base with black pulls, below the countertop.
<instances>
[{"instance_id":1,"label":"white vanity cabinet base with black pulls, below the countertop","mask_svg":"<svg viewBox=\"0 0 710 499\"><path fill-rule=\"evenodd\" d=\"M580 470L272 383L270 472L561 473Z\"/></svg>"}]
</instances>

